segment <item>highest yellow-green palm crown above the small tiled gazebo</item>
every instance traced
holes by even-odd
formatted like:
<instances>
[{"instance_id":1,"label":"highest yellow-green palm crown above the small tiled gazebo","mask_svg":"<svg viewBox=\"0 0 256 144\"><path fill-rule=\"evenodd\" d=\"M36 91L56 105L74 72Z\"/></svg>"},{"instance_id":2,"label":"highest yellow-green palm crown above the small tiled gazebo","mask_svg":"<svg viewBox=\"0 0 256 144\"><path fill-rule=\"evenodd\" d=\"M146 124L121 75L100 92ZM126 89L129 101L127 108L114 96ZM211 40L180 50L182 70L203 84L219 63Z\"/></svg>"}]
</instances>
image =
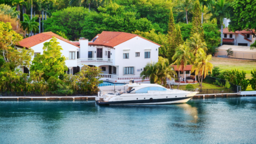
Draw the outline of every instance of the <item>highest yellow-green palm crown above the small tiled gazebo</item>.
<instances>
[{"instance_id":1,"label":"highest yellow-green palm crown above the small tiled gazebo","mask_svg":"<svg viewBox=\"0 0 256 144\"><path fill-rule=\"evenodd\" d=\"M194 56L197 55L198 50L207 50L206 43L201 41L200 34L194 33L189 40L187 45L190 47L191 52Z\"/></svg>"}]
</instances>

